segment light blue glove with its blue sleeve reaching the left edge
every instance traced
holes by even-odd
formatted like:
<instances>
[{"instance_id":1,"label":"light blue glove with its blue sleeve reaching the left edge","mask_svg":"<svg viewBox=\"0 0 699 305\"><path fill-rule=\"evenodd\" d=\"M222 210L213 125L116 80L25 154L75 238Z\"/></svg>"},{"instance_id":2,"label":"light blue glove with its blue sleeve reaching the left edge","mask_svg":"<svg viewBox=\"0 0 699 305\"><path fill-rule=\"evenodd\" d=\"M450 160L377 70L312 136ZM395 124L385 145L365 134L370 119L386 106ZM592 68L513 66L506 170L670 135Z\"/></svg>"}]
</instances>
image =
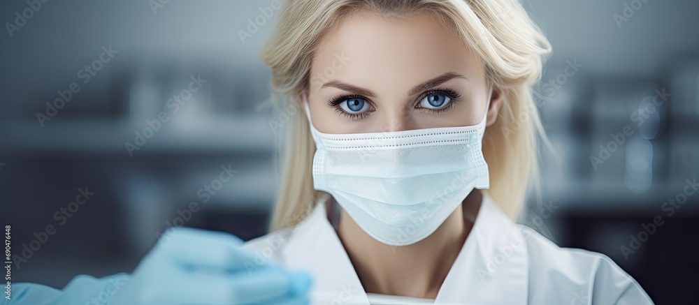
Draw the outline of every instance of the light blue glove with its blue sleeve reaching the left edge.
<instances>
[{"instance_id":1,"label":"light blue glove with its blue sleeve reaching the left edge","mask_svg":"<svg viewBox=\"0 0 699 305\"><path fill-rule=\"evenodd\" d=\"M13 284L20 305L308 304L310 276L259 265L243 241L222 232L169 230L133 274L75 276L63 290Z\"/></svg>"}]
</instances>

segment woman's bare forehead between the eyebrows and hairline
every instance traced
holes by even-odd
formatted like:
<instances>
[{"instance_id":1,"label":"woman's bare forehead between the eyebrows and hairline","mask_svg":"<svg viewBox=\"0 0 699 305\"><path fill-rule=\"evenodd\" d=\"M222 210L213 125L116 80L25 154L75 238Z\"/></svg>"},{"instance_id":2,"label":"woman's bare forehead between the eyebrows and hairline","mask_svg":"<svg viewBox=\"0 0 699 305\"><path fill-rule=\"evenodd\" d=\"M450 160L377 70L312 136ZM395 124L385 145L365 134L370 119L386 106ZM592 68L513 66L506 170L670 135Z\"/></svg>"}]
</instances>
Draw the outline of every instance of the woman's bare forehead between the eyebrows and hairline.
<instances>
[{"instance_id":1,"label":"woman's bare forehead between the eyebrows and hairline","mask_svg":"<svg viewBox=\"0 0 699 305\"><path fill-rule=\"evenodd\" d=\"M326 34L312 61L315 79L422 82L445 72L483 77L483 68L461 40L431 15L401 18L361 13Z\"/></svg>"}]
</instances>

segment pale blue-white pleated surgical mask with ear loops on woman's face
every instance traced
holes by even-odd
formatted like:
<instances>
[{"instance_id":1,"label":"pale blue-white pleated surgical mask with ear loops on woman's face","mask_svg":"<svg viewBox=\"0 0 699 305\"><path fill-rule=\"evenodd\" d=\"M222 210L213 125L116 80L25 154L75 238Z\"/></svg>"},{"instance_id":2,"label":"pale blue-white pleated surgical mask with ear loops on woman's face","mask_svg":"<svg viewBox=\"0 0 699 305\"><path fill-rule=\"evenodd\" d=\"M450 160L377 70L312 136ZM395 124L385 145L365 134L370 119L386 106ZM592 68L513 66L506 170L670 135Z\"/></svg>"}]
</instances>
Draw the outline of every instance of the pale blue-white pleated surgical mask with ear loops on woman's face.
<instances>
[{"instance_id":1,"label":"pale blue-white pleated surgical mask with ear loops on woman's face","mask_svg":"<svg viewBox=\"0 0 699 305\"><path fill-rule=\"evenodd\" d=\"M473 188L489 188L481 150L488 107L474 126L351 134L317 131L305 98L303 107L317 149L314 188L330 193L377 241L415 244Z\"/></svg>"}]
</instances>

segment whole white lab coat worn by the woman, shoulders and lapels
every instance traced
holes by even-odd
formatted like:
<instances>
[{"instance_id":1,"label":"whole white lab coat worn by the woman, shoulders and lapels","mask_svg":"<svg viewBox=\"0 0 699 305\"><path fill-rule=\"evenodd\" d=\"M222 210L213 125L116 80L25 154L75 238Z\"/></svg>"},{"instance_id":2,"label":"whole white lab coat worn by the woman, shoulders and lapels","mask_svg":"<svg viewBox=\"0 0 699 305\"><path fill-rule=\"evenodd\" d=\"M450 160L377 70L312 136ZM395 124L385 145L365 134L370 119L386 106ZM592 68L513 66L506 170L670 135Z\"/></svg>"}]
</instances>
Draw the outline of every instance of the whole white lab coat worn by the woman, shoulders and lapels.
<instances>
[{"instance_id":1,"label":"whole white lab coat worn by the woman, shoulders and lapels","mask_svg":"<svg viewBox=\"0 0 699 305\"><path fill-rule=\"evenodd\" d=\"M653 304L607 256L559 248L514 223L488 195L483 198L434 304ZM322 196L294 228L253 239L246 246L256 251L256 264L275 260L310 271L313 304L370 304L327 218L324 202L329 199Z\"/></svg>"}]
</instances>

